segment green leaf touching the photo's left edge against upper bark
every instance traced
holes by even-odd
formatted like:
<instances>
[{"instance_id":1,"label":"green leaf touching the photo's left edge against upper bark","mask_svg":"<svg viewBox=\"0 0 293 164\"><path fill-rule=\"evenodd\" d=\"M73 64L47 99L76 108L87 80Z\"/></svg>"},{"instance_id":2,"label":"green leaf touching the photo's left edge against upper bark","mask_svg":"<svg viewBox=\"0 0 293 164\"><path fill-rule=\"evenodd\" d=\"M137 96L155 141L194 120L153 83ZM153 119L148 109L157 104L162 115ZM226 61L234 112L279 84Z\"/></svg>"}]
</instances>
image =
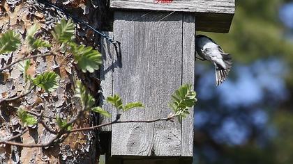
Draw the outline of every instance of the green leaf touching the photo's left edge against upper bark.
<instances>
[{"instance_id":1,"label":"green leaf touching the photo's left edge against upper bark","mask_svg":"<svg viewBox=\"0 0 293 164\"><path fill-rule=\"evenodd\" d=\"M8 30L0 38L0 54L15 51L20 45L20 35Z\"/></svg>"}]
</instances>

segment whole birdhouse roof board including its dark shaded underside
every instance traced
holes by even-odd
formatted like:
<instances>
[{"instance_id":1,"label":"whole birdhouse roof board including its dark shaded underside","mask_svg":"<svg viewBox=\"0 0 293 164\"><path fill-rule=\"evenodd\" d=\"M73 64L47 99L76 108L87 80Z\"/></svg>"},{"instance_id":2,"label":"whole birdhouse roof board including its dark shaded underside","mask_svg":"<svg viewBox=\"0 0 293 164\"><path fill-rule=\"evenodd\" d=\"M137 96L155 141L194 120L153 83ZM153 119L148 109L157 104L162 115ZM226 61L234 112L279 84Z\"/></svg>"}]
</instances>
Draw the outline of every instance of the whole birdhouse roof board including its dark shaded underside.
<instances>
[{"instance_id":1,"label":"whole birdhouse roof board including its dark shaded underside","mask_svg":"<svg viewBox=\"0 0 293 164\"><path fill-rule=\"evenodd\" d=\"M235 0L110 0L110 7L126 10L192 12L197 17L197 31L228 33L235 12ZM150 11L156 12L156 11Z\"/></svg>"}]
</instances>

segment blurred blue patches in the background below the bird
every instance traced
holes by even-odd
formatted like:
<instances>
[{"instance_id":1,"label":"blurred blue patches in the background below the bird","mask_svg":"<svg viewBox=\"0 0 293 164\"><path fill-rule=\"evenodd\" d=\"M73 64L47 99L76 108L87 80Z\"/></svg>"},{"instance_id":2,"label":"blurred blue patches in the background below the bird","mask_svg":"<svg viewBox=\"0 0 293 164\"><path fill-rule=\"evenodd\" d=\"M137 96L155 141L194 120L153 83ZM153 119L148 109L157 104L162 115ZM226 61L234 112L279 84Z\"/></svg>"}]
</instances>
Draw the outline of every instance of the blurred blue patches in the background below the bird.
<instances>
[{"instance_id":1,"label":"blurred blue patches in the background below the bird","mask_svg":"<svg viewBox=\"0 0 293 164\"><path fill-rule=\"evenodd\" d=\"M228 79L220 86L215 85L215 73L213 65L202 65L197 62L195 72L201 74L200 81L195 88L197 99L202 102L212 101L216 95L219 97L219 106L209 110L195 106L195 127L200 128L207 124L220 124L217 129L209 133L216 142L228 145L241 145L246 142L251 133L247 120L256 127L264 128L269 120L265 109L260 106L267 104L265 99L270 99L270 104L278 104L278 101L287 98L287 89L284 76L288 73L282 60L269 58L257 60L250 65L234 63L234 67ZM243 110L249 108L250 110ZM224 111L229 110L228 116L223 119ZM243 110L233 114L233 110ZM241 112L240 112L241 113ZM269 130L269 129L268 129Z\"/></svg>"}]
</instances>

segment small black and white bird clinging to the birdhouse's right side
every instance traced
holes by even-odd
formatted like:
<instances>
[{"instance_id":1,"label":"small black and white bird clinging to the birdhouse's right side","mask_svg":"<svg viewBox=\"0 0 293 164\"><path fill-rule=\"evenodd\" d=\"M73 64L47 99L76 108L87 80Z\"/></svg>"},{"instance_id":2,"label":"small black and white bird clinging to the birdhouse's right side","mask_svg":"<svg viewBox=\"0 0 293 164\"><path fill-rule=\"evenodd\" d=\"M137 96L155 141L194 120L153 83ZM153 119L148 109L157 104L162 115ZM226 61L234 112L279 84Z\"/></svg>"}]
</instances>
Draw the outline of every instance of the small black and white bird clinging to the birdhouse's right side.
<instances>
[{"instance_id":1,"label":"small black and white bird clinging to the birdhouse's right side","mask_svg":"<svg viewBox=\"0 0 293 164\"><path fill-rule=\"evenodd\" d=\"M216 69L216 85L223 83L232 67L232 57L223 51L211 38L205 35L196 35L195 51L202 60L209 60Z\"/></svg>"}]
</instances>

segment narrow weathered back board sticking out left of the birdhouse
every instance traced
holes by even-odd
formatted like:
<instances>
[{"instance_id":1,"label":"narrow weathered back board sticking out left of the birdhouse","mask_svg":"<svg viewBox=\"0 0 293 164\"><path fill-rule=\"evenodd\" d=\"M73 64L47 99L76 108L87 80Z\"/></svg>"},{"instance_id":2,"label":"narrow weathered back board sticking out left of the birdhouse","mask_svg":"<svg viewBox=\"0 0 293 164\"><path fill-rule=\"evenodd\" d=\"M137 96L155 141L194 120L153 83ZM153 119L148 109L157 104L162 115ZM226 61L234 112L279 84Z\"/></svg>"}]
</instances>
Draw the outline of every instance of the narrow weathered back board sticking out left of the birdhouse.
<instances>
[{"instance_id":1,"label":"narrow weathered back board sticking out left of the birdhouse","mask_svg":"<svg viewBox=\"0 0 293 164\"><path fill-rule=\"evenodd\" d=\"M112 32L104 32L113 38ZM112 113L112 105L107 104L106 97L112 96L113 92L113 58L114 58L114 46L108 42L105 38L100 39L100 53L103 55L103 65L100 67L100 87L103 95L100 98L100 106ZM112 118L104 117L100 115L100 124L111 122ZM111 131L112 126L103 126L101 131Z\"/></svg>"}]
</instances>

